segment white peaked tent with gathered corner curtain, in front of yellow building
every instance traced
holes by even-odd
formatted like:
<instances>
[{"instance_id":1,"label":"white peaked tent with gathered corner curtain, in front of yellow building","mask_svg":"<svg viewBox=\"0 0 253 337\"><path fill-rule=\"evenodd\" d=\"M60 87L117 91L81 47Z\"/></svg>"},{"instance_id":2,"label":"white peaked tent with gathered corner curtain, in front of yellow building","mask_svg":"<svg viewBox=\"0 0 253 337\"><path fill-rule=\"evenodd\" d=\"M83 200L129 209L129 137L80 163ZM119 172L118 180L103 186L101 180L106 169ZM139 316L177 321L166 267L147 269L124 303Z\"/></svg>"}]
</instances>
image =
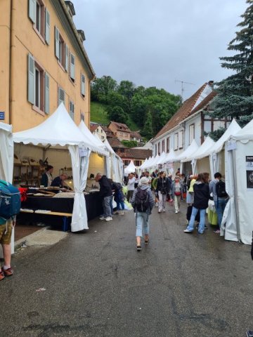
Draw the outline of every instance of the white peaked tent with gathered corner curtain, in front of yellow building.
<instances>
[{"instance_id":1,"label":"white peaked tent with gathered corner curtain, in front of yellow building","mask_svg":"<svg viewBox=\"0 0 253 337\"><path fill-rule=\"evenodd\" d=\"M72 161L72 175L74 185L74 206L72 212L72 232L88 229L86 202L84 188L89 166L91 150L97 152L98 148L90 143L88 137L74 124L63 103L56 112L46 121L25 131L13 133L15 143L43 145L44 147L67 147ZM84 150L83 155L79 150ZM100 151L100 150L99 150Z\"/></svg>"}]
</instances>

